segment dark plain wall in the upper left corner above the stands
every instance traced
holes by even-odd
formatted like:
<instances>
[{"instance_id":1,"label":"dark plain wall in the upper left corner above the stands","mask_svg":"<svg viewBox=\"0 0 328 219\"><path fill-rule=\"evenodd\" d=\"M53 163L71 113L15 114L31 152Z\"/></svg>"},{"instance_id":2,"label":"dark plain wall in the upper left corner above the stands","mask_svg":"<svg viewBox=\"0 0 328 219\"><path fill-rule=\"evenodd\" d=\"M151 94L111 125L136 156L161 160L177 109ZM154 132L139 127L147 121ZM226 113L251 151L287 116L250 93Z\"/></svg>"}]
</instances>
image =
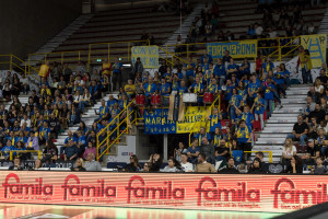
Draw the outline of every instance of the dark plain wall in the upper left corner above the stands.
<instances>
[{"instance_id":1,"label":"dark plain wall in the upper left corner above the stands","mask_svg":"<svg viewBox=\"0 0 328 219\"><path fill-rule=\"evenodd\" d=\"M26 58L81 11L81 0L1 0L0 54Z\"/></svg>"}]
</instances>

